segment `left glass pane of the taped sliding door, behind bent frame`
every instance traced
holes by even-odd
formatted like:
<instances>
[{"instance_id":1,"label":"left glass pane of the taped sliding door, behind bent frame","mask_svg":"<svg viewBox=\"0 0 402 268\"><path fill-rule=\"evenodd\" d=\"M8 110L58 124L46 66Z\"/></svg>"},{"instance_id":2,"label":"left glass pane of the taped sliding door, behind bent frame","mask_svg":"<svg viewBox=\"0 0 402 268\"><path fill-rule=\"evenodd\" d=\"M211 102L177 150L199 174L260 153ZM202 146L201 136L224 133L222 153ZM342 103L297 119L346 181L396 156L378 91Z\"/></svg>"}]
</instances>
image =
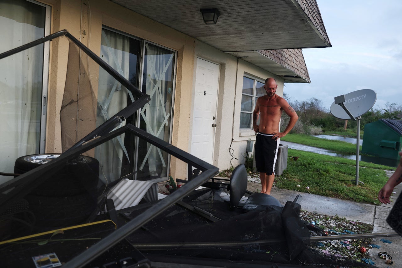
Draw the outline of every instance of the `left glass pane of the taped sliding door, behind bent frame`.
<instances>
[{"instance_id":1,"label":"left glass pane of the taped sliding door, behind bent frame","mask_svg":"<svg viewBox=\"0 0 402 268\"><path fill-rule=\"evenodd\" d=\"M100 41L100 58L138 87L141 44L142 41L140 40L103 28ZM103 68L100 68L97 126L126 107L127 103L132 102L134 102L134 98L131 93ZM123 121L122 125L125 122ZM135 124L132 116L127 119L127 122ZM125 135L118 136L96 147L95 158L98 159L101 167L100 179L105 182L114 181L122 175L130 173L133 169L133 148L132 139Z\"/></svg>"}]
</instances>

